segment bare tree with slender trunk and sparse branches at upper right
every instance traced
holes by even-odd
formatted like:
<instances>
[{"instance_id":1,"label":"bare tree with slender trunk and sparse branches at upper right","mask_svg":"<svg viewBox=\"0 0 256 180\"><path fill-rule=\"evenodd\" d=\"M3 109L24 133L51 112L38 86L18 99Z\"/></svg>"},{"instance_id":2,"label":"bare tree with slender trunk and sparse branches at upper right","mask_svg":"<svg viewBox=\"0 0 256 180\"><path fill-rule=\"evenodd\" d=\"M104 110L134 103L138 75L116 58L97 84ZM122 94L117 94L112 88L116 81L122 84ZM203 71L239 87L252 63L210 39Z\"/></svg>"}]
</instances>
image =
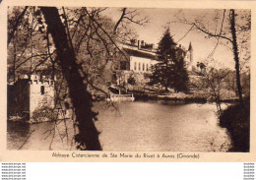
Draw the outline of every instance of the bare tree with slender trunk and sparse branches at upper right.
<instances>
[{"instance_id":1,"label":"bare tree with slender trunk and sparse branches at upper right","mask_svg":"<svg viewBox=\"0 0 256 180\"><path fill-rule=\"evenodd\" d=\"M231 49L233 52L233 60L235 62L235 71L236 71L236 87L239 96L239 102L243 106L242 98L242 88L240 83L240 57L239 51L241 52L243 48L242 44L247 43L250 39L250 12L239 12L235 13L236 10L229 10L228 13L226 10L216 11L216 16L212 25L209 25L209 21L204 21L204 17L199 17L196 20L188 20L186 17L179 15L177 16L177 22L190 25L190 30L199 30L206 34L207 38L216 38L217 44L211 53L215 52L217 46L221 43L221 39L224 40L224 44L231 44ZM238 20L239 19L239 20ZM212 22L211 22L212 23ZM218 30L220 29L220 30ZM190 31L189 30L189 31ZM239 35L240 45L237 42L237 33ZM187 33L186 33L187 34ZM243 36L242 36L243 35ZM248 54L248 52L247 52ZM247 58L248 60L249 58Z\"/></svg>"}]
</instances>

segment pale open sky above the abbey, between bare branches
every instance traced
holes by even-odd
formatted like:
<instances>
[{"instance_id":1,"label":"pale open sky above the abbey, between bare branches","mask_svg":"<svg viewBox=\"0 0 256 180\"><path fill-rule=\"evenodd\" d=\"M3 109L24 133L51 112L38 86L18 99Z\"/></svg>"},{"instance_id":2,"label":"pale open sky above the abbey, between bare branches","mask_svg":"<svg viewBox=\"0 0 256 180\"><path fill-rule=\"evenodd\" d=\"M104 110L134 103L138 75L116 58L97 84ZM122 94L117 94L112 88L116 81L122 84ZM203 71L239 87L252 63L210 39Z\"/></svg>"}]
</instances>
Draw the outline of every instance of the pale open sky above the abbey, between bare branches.
<instances>
[{"instance_id":1,"label":"pale open sky above the abbey, between bare branches","mask_svg":"<svg viewBox=\"0 0 256 180\"><path fill-rule=\"evenodd\" d=\"M144 40L148 43L155 43L158 46L160 38L166 30L166 27L169 27L170 33L173 36L174 41L178 41L182 38L187 31L191 28L189 25L184 25L180 23L174 23L176 20L175 15L178 15L180 11L184 14L187 19L194 19L201 17L204 21L208 22L211 25L213 21L213 16L215 14L214 10L198 10L198 9L138 9L140 11L140 16L147 16L150 19L150 23L145 26L133 25L133 29L138 33L138 39ZM121 16L120 8L109 8L104 12L105 16L111 17L114 22L117 22ZM221 25L220 21L220 25ZM213 25L213 24L212 24ZM219 27L217 27L217 30ZM221 29L221 26L220 26ZM214 50L217 39L215 38L205 38L203 32L196 30L191 30L189 33L178 42L186 49L189 46L189 43L192 43L194 50L194 60L204 62L205 59L211 54ZM218 62L216 66L226 67L229 69L234 68L233 55L230 48L227 48L224 45L219 45L214 54L215 60Z\"/></svg>"}]
</instances>

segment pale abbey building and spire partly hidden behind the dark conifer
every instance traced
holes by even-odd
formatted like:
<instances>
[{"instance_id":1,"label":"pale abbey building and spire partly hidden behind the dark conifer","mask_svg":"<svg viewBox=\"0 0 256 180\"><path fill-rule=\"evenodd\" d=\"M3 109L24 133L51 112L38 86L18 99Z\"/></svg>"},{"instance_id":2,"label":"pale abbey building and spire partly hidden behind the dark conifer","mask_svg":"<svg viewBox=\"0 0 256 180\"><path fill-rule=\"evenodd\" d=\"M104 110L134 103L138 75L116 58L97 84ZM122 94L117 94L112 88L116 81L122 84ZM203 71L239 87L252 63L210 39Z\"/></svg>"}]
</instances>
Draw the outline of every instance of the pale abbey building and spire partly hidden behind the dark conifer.
<instances>
[{"instance_id":1,"label":"pale abbey building and spire partly hidden behind the dark conifer","mask_svg":"<svg viewBox=\"0 0 256 180\"><path fill-rule=\"evenodd\" d=\"M121 48L128 55L128 59L120 61L120 68L116 71L117 85L121 87L134 87L128 85L129 79L133 78L138 87L145 86L152 73L152 67L159 63L157 49L154 45L147 44L143 40L135 43L122 43ZM188 72L197 69L193 59L193 47L189 44L186 50L181 45L178 47L184 52L184 61Z\"/></svg>"}]
</instances>

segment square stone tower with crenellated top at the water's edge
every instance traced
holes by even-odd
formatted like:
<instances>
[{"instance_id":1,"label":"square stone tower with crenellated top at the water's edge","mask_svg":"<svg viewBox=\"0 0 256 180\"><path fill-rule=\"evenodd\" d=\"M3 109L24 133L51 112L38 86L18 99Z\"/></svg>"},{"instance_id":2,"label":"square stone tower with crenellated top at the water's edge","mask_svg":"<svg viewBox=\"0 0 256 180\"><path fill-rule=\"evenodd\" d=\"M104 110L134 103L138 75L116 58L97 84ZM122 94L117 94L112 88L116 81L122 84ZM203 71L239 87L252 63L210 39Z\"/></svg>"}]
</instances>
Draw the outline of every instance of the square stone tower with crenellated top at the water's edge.
<instances>
[{"instance_id":1,"label":"square stone tower with crenellated top at the water's edge","mask_svg":"<svg viewBox=\"0 0 256 180\"><path fill-rule=\"evenodd\" d=\"M8 115L26 120L47 121L54 107L54 80L46 76L24 76L8 86ZM36 114L37 113L37 114Z\"/></svg>"}]
</instances>

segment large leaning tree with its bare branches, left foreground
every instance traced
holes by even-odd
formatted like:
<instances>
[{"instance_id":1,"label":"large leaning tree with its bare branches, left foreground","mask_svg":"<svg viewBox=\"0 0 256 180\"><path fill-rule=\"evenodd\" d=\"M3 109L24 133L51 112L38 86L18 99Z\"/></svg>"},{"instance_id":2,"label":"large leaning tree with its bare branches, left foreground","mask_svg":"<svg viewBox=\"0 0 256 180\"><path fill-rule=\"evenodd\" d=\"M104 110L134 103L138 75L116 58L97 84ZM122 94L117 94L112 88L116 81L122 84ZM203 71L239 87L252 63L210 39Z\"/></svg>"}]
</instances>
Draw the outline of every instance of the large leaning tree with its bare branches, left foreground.
<instances>
[{"instance_id":1,"label":"large leaning tree with its bare branches, left foreground","mask_svg":"<svg viewBox=\"0 0 256 180\"><path fill-rule=\"evenodd\" d=\"M36 67L46 65L52 78L58 77L52 113L57 104L62 109L63 105L69 104L67 99L71 100L75 111L74 131L78 129L78 132L74 132L75 142L80 150L101 150L99 133L94 124L96 112L92 110L92 89L107 94L106 88L117 60L127 58L116 44L120 34L113 31L115 24L111 19L101 16L102 11L104 8L29 7L28 14L23 17L23 21L29 18L27 23L21 22L21 29L14 30L21 38L22 29L28 27L28 45L24 46L24 53L20 53L22 48L19 49L22 55L16 61L19 61L15 65L16 71L32 63L30 74L36 71ZM40 46L34 46L33 41L39 40ZM64 89L66 87L67 90ZM58 115L55 117L54 127L45 132L46 138L52 136L51 142L57 134L63 140L63 136L58 133L59 123L56 123ZM65 123L65 119L62 122ZM65 136L68 140L68 133Z\"/></svg>"}]
</instances>

